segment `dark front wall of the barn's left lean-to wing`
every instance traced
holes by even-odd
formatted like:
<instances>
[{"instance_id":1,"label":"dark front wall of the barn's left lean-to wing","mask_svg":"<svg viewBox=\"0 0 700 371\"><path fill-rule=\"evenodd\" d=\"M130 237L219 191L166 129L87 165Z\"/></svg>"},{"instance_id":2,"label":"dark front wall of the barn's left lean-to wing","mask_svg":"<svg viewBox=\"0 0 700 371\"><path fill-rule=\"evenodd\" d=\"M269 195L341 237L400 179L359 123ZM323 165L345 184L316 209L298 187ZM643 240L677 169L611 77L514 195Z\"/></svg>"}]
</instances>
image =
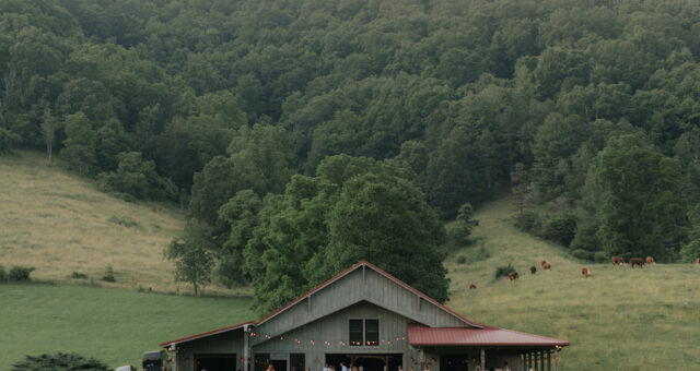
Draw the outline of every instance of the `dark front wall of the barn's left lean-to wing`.
<instances>
[{"instance_id":1,"label":"dark front wall of the barn's left lean-to wing","mask_svg":"<svg viewBox=\"0 0 700 371\"><path fill-rule=\"evenodd\" d=\"M243 328L177 344L177 371L192 371L196 355L235 354L243 358ZM187 359L189 359L187 361ZM235 370L232 370L235 371Z\"/></svg>"}]
</instances>

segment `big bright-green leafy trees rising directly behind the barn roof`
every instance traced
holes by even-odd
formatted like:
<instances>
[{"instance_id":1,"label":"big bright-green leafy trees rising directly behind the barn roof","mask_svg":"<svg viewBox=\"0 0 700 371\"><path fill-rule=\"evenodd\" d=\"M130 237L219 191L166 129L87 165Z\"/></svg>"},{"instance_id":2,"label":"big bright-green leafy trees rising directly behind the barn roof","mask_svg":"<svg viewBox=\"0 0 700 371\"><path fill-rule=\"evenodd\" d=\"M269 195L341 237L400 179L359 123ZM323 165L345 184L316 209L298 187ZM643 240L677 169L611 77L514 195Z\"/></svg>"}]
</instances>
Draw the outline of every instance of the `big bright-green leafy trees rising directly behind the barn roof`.
<instances>
[{"instance_id":1,"label":"big bright-green leafy trees rising directly behind the barn roof","mask_svg":"<svg viewBox=\"0 0 700 371\"><path fill-rule=\"evenodd\" d=\"M438 300L447 298L442 223L409 172L339 155L316 173L293 177L283 195L262 201L244 249L257 312L278 308L360 260ZM249 193L233 200L246 199Z\"/></svg>"}]
</instances>

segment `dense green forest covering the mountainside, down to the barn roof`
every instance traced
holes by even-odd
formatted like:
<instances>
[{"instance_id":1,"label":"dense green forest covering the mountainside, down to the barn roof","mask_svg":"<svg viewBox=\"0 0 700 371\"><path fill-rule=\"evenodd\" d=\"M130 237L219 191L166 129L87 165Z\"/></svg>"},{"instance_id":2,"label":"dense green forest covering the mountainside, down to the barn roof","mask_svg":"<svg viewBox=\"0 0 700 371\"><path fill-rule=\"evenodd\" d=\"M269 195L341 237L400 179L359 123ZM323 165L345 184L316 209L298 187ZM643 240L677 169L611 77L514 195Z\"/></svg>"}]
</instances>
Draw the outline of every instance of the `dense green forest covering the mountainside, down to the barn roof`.
<instances>
[{"instance_id":1,"label":"dense green forest covering the mountainside, down to the barn roof","mask_svg":"<svg viewBox=\"0 0 700 371\"><path fill-rule=\"evenodd\" d=\"M2 0L0 152L186 206L261 311L359 258L445 300L442 223L511 191L576 258L700 255L699 58L695 1Z\"/></svg>"}]
</instances>

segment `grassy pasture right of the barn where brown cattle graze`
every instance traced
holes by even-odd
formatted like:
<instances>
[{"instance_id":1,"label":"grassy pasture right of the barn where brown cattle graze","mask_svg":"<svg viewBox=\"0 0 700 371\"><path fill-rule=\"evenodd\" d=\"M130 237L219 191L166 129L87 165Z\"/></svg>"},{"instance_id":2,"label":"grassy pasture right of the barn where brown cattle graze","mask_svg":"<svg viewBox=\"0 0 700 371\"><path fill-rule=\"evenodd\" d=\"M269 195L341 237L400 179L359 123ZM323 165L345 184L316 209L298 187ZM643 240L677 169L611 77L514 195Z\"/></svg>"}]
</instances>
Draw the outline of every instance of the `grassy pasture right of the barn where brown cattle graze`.
<instances>
[{"instance_id":1,"label":"grassy pasture right of the barn where brown cattle graze","mask_svg":"<svg viewBox=\"0 0 700 371\"><path fill-rule=\"evenodd\" d=\"M570 340L563 370L700 370L700 266L576 262L513 228L511 214L508 199L476 213L477 242L446 263L451 308L476 322ZM467 262L458 264L459 255ZM541 271L540 260L551 271ZM509 262L521 278L495 280L495 267ZM592 270L588 278L583 266ZM470 290L471 283L478 288Z\"/></svg>"}]
</instances>

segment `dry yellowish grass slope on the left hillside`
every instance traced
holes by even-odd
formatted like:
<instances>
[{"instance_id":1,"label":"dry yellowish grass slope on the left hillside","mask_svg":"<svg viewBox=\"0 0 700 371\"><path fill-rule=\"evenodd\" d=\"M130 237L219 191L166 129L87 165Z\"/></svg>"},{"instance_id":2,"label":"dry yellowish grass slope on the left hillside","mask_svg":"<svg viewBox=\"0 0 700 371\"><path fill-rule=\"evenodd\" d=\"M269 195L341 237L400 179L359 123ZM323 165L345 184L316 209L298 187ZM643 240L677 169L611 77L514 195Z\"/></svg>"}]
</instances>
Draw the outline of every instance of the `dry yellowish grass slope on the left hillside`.
<instances>
[{"instance_id":1,"label":"dry yellowish grass slope on the left hillside","mask_svg":"<svg viewBox=\"0 0 700 371\"><path fill-rule=\"evenodd\" d=\"M36 267L42 280L88 282L109 287L189 292L189 285L173 283L172 264L163 249L183 228L176 207L128 203L102 193L95 185L45 156L19 152L0 157L0 264ZM100 282L112 267L115 284ZM207 292L249 294L211 285Z\"/></svg>"}]
</instances>

